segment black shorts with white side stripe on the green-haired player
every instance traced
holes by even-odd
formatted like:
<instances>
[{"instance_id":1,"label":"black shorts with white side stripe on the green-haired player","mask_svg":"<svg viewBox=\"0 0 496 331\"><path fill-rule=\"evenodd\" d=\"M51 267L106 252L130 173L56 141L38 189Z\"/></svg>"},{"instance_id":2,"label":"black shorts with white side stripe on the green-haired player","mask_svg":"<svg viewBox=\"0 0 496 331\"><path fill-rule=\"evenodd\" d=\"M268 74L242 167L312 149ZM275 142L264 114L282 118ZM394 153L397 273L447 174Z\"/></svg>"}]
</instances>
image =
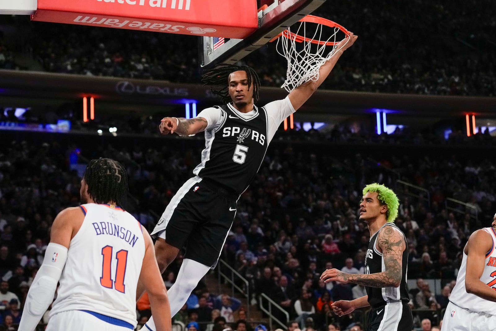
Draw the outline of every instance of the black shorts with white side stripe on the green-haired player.
<instances>
[{"instance_id":1,"label":"black shorts with white side stripe on the green-haired player","mask_svg":"<svg viewBox=\"0 0 496 331\"><path fill-rule=\"evenodd\" d=\"M374 307L369 312L367 331L410 331L413 330L413 316L408 304L390 302Z\"/></svg>"}]
</instances>

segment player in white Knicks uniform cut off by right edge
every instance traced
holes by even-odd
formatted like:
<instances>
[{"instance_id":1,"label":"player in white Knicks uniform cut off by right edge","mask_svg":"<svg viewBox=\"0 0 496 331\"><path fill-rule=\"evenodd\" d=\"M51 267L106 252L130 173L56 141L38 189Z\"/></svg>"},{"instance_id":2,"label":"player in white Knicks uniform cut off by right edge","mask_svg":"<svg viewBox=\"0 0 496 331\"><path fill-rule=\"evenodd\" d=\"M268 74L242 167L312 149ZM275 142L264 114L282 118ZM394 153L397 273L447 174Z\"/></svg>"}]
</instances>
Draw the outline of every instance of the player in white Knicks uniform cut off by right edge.
<instances>
[{"instance_id":1,"label":"player in white Knicks uniform cut off by right edge","mask_svg":"<svg viewBox=\"0 0 496 331\"><path fill-rule=\"evenodd\" d=\"M456 285L442 320L442 331L496 330L496 214L492 227L470 235Z\"/></svg>"}]
</instances>

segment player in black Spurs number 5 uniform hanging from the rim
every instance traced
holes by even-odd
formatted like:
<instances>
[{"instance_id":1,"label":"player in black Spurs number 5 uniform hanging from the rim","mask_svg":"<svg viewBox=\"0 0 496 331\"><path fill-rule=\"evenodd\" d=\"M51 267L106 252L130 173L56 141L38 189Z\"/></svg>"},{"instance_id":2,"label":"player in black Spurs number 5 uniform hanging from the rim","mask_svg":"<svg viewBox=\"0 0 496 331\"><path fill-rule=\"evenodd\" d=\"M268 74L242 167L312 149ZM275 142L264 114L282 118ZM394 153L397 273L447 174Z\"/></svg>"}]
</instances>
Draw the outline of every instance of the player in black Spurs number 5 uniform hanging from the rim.
<instances>
[{"instance_id":1,"label":"player in black Spurs number 5 uniform hanging from the rim","mask_svg":"<svg viewBox=\"0 0 496 331\"><path fill-rule=\"evenodd\" d=\"M212 92L226 105L207 108L193 119L162 119L162 134L186 136L204 131L206 140L194 177L179 189L152 232L157 237L155 254L162 272L186 245L185 260L168 293L172 316L217 264L236 214L236 201L256 175L277 128L310 98L356 39L351 34L342 40L337 46L341 50L320 67L319 78L296 87L284 100L256 107L260 82L255 71L248 66L221 65L207 70L203 82L213 86ZM142 293L141 288L136 294ZM145 326L155 331L153 319Z\"/></svg>"}]
</instances>

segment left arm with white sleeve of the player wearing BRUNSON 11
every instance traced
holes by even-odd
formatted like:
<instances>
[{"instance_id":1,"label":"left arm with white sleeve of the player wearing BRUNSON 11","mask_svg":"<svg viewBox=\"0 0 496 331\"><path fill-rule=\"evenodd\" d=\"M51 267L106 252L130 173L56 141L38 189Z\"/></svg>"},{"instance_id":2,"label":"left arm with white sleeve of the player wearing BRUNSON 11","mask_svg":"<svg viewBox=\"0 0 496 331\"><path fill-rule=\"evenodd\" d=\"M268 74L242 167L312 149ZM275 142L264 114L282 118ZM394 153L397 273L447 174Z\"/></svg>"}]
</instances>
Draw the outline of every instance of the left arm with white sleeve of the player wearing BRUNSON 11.
<instances>
[{"instance_id":1,"label":"left arm with white sleeve of the player wearing BRUNSON 11","mask_svg":"<svg viewBox=\"0 0 496 331\"><path fill-rule=\"evenodd\" d=\"M67 261L74 224L82 223L83 219L84 214L79 207L66 208L55 218L43 264L29 288L19 331L33 331L54 300L57 283Z\"/></svg>"}]
</instances>

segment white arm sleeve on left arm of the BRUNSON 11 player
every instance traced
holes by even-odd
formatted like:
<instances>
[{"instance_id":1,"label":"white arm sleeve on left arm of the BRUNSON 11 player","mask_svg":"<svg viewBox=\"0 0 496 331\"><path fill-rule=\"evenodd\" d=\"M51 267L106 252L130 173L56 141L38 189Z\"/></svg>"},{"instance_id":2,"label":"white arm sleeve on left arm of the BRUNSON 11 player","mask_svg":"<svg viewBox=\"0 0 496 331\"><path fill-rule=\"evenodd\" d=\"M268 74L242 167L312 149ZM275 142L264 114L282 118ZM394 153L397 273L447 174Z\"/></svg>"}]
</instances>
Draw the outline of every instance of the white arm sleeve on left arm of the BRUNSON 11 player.
<instances>
[{"instance_id":1,"label":"white arm sleeve on left arm of the BRUNSON 11 player","mask_svg":"<svg viewBox=\"0 0 496 331\"><path fill-rule=\"evenodd\" d=\"M19 331L33 331L43 314L54 300L57 283L67 261L67 248L50 243L45 251L45 259L36 273L22 312Z\"/></svg>"}]
</instances>

